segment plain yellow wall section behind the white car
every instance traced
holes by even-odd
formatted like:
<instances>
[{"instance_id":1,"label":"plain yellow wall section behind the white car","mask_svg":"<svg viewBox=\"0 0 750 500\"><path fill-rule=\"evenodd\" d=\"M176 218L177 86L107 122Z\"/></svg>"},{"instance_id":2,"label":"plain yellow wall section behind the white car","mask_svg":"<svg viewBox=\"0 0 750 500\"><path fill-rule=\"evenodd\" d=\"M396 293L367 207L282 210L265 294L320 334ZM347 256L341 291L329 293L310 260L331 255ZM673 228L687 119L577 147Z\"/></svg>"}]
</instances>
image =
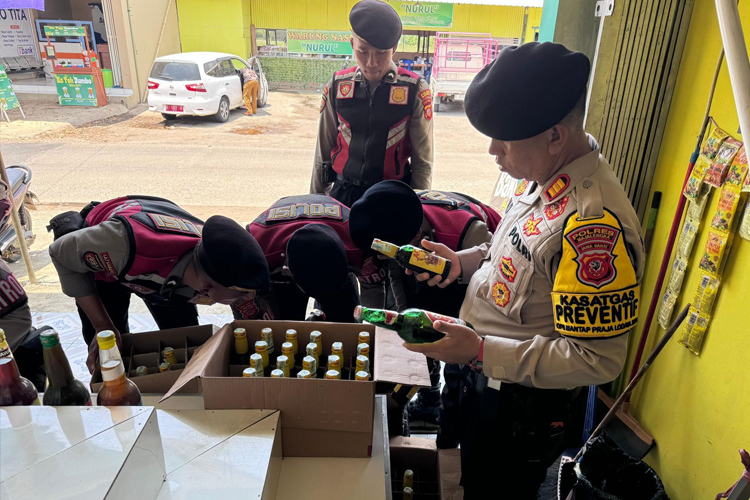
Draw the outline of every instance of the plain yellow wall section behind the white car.
<instances>
[{"instance_id":1,"label":"plain yellow wall section behind the white car","mask_svg":"<svg viewBox=\"0 0 750 500\"><path fill-rule=\"evenodd\" d=\"M177 0L183 52L250 55L250 0Z\"/></svg>"}]
</instances>

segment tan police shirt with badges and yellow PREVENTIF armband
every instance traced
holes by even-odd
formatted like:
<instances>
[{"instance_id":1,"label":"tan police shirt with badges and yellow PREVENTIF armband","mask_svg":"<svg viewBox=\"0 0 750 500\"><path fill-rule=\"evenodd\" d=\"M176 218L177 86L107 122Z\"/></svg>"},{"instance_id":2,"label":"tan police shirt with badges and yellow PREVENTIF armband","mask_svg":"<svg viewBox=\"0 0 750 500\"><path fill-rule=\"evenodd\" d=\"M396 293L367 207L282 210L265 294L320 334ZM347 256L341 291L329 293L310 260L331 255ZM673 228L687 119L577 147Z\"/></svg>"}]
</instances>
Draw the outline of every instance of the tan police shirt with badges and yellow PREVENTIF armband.
<instances>
[{"instance_id":1,"label":"tan police shirt with badges and yellow PREVENTIF armband","mask_svg":"<svg viewBox=\"0 0 750 500\"><path fill-rule=\"evenodd\" d=\"M569 389L622 370L643 240L619 180L592 149L544 185L522 181L492 242L459 252L469 282L460 316L486 336L487 377Z\"/></svg>"}]
</instances>

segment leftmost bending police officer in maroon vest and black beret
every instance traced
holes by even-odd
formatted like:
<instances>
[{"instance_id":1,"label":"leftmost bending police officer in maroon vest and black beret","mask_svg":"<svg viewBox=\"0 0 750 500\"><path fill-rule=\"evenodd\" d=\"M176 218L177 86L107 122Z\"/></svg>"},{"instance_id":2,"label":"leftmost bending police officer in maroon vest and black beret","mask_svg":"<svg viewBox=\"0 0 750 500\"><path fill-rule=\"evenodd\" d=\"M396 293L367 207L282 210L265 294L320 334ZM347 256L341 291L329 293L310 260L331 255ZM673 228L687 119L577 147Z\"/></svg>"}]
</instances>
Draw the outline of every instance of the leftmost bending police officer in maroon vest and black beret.
<instances>
[{"instance_id":1,"label":"leftmost bending police officer in maroon vest and black beret","mask_svg":"<svg viewBox=\"0 0 750 500\"><path fill-rule=\"evenodd\" d=\"M76 299L90 370L97 332L129 333L131 294L161 329L197 325L196 304L252 301L270 309L261 297L270 287L263 252L226 217L204 225L175 203L148 196L91 203L80 216L82 227L56 233L49 252L63 293Z\"/></svg>"}]
</instances>

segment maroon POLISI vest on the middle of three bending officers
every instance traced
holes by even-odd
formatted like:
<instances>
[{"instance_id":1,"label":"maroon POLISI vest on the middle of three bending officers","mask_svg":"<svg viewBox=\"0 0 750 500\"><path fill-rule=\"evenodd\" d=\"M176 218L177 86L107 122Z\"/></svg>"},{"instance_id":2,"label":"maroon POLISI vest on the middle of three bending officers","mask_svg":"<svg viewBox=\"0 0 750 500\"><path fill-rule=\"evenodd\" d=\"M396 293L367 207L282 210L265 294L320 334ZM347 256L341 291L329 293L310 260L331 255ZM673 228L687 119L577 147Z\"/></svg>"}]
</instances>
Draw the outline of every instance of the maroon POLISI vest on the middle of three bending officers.
<instances>
[{"instance_id":1,"label":"maroon POLISI vest on the middle of three bending officers","mask_svg":"<svg viewBox=\"0 0 750 500\"><path fill-rule=\"evenodd\" d=\"M286 262L286 245L297 229L308 224L325 224L339 235L344 243L349 267L365 282L382 281L377 270L370 269L367 259L349 234L349 208L324 194L287 196L274 203L257 219L247 225L268 261L271 273L279 272ZM372 275L374 273L374 276ZM371 281L375 279L376 281Z\"/></svg>"}]
</instances>

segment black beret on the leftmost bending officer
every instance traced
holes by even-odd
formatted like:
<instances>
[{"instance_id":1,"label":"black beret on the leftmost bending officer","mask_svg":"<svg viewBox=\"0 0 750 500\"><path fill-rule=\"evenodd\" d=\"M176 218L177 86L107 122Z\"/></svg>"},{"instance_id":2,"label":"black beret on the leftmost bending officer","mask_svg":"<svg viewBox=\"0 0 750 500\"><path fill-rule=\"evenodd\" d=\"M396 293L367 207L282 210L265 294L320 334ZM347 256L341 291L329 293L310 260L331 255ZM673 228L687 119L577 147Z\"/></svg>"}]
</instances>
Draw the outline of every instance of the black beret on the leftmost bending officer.
<instances>
[{"instance_id":1,"label":"black beret on the leftmost bending officer","mask_svg":"<svg viewBox=\"0 0 750 500\"><path fill-rule=\"evenodd\" d=\"M214 215L203 226L203 238L195 248L203 271L226 288L267 291L271 287L263 250L232 219Z\"/></svg>"}]
</instances>

